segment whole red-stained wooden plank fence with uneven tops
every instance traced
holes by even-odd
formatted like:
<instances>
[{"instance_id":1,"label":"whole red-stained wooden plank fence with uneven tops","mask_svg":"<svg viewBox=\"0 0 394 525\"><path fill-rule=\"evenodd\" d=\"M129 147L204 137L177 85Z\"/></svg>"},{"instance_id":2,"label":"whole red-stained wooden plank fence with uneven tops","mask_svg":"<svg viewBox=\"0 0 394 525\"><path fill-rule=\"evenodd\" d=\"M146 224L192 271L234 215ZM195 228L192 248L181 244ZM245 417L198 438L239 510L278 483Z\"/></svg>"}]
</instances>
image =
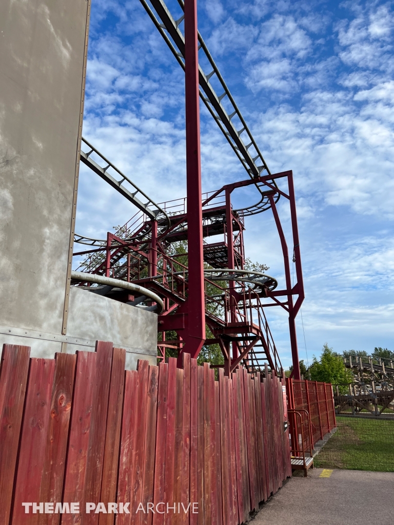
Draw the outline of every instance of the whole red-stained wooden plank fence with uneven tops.
<instances>
[{"instance_id":1,"label":"whole red-stained wooden plank fence with uneven tops","mask_svg":"<svg viewBox=\"0 0 394 525\"><path fill-rule=\"evenodd\" d=\"M125 372L125 350L112 343L55 359L4 345L0 525L245 522L291 476L284 382L243 369L215 381L189 354L176 363ZM40 512L40 502L54 505ZM79 512L60 513L60 502ZM87 513L89 502L107 513ZM130 513L108 513L111 502Z\"/></svg>"}]
</instances>

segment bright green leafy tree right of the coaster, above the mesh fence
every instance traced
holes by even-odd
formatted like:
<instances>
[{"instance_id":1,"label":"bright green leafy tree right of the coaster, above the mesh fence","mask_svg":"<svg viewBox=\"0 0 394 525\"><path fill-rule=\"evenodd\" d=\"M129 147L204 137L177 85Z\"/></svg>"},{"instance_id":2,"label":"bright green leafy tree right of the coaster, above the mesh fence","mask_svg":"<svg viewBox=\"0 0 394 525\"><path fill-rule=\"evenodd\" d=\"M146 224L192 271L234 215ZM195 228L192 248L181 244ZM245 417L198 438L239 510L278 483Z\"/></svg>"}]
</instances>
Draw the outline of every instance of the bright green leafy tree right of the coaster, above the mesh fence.
<instances>
[{"instance_id":1,"label":"bright green leafy tree right of the coaster, above the mesh fence","mask_svg":"<svg viewBox=\"0 0 394 525\"><path fill-rule=\"evenodd\" d=\"M310 366L309 373L310 379L313 381L323 381L335 385L338 384L339 392L343 394L348 392L348 386L346 386L346 383L351 383L353 381L353 374L351 371L346 369L342 358L336 355L335 352L333 352L333 349L329 348L327 343L323 346L320 361L313 356L313 364Z\"/></svg>"}]
</instances>

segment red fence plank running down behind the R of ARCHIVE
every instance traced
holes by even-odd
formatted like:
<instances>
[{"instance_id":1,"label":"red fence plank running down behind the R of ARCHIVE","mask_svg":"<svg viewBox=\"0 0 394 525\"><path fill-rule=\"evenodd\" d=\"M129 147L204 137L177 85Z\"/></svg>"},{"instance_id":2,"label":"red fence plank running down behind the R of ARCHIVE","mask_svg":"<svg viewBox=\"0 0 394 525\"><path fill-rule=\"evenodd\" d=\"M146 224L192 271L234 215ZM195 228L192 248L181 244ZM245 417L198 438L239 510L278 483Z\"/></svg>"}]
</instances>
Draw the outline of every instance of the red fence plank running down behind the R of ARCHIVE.
<instances>
[{"instance_id":1,"label":"red fence plank running down behind the R of ARCHIVE","mask_svg":"<svg viewBox=\"0 0 394 525\"><path fill-rule=\"evenodd\" d=\"M157 399L158 399L159 367L149 366L148 379L148 402L147 402L147 427L145 433L145 449L143 461L143 488L142 505L147 509L147 503L153 501L153 473L154 473L154 451L156 445L156 421L157 421ZM153 513L141 513L141 523L151 525ZM101 525L101 524L100 524Z\"/></svg>"}]
</instances>

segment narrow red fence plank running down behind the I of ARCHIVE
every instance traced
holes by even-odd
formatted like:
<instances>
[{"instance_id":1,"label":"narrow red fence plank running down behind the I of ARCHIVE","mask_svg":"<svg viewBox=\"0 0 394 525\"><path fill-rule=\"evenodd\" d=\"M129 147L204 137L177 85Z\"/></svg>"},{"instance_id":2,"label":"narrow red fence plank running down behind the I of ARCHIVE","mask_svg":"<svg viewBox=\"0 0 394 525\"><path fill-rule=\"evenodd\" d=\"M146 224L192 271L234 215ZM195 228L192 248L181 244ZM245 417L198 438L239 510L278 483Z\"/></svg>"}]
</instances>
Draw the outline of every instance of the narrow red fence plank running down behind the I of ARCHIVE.
<instances>
[{"instance_id":1,"label":"narrow red fence plank running down behind the I of ARCHIVE","mask_svg":"<svg viewBox=\"0 0 394 525\"><path fill-rule=\"evenodd\" d=\"M174 503L175 515L171 523L181 522L182 498L182 417L183 417L183 370L177 368L177 401L175 403L175 445L174 445Z\"/></svg>"}]
</instances>

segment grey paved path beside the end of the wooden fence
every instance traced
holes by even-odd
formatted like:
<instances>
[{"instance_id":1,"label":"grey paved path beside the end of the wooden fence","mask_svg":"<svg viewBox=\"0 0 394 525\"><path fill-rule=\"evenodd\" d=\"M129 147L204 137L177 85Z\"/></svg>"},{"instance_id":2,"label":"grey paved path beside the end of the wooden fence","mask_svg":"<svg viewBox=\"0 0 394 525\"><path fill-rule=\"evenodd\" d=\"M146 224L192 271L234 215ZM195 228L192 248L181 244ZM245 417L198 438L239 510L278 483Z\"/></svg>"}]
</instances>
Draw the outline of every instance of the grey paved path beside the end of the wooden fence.
<instances>
[{"instance_id":1,"label":"grey paved path beside the end of the wooden fence","mask_svg":"<svg viewBox=\"0 0 394 525\"><path fill-rule=\"evenodd\" d=\"M293 477L257 513L253 525L392 525L394 472L308 470Z\"/></svg>"}]
</instances>

